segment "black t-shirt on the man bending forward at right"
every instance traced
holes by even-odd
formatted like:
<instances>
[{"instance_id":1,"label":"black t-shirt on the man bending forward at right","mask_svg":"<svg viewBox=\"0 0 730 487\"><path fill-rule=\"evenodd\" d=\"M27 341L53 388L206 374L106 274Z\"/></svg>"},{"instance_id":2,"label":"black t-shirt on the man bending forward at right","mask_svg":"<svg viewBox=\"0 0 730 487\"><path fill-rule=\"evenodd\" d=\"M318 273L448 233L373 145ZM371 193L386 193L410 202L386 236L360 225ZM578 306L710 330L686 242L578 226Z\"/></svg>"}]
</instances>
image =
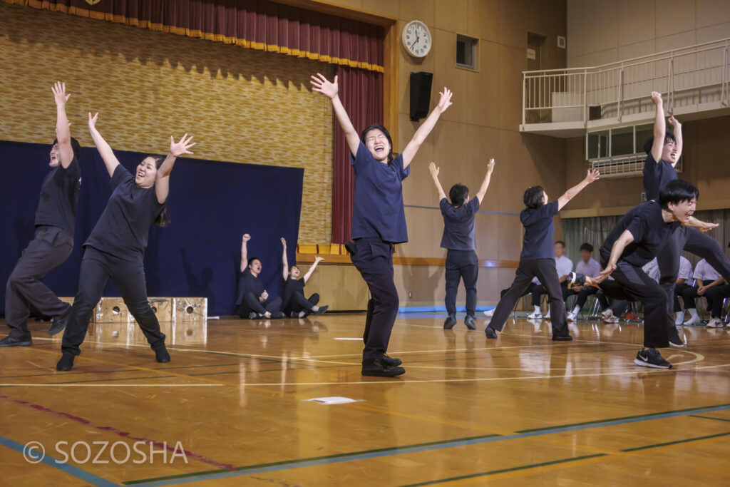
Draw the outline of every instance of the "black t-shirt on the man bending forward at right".
<instances>
[{"instance_id":1,"label":"black t-shirt on the man bending forward at right","mask_svg":"<svg viewBox=\"0 0 730 487\"><path fill-rule=\"evenodd\" d=\"M680 223L675 221L665 223L661 217L661 207L655 201L648 201L623 215L601 246L601 259L605 265L611 256L613 244L621 237L623 231L628 230L634 236L634 241L621 254L619 261L633 266L642 267L655 258L659 250Z\"/></svg>"}]
</instances>

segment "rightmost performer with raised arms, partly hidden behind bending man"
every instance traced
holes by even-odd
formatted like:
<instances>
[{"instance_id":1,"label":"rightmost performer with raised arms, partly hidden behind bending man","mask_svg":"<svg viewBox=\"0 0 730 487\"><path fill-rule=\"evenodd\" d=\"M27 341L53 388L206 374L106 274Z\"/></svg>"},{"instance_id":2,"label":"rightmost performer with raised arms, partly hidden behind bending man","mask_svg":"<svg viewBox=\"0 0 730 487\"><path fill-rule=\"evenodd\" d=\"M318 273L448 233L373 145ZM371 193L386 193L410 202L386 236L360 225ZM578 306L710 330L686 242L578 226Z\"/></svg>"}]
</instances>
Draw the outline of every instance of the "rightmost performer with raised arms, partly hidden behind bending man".
<instances>
[{"instance_id":1,"label":"rightmost performer with raised arms, partly hidden behind bending man","mask_svg":"<svg viewBox=\"0 0 730 487\"><path fill-rule=\"evenodd\" d=\"M644 164L644 189L647 199L657 199L659 191L664 185L677 180L675 166L682 156L683 139L682 124L673 116L669 117L669 123L674 127L674 133L666 131L664 102L661 99L661 93L653 91L651 100L656 104L656 118L654 136L644 144L644 150L647 153ZM666 291L666 295L669 296L666 306L670 315L674 310L675 285L677 275L679 275L682 250L704 258L713 269L730 282L730 261L720 244L703 233L714 229L717 224L704 223L690 217L690 221L685 225L676 229L657 256L661 272L659 282ZM677 333L674 321L669 323L669 343L675 347L684 345Z\"/></svg>"}]
</instances>

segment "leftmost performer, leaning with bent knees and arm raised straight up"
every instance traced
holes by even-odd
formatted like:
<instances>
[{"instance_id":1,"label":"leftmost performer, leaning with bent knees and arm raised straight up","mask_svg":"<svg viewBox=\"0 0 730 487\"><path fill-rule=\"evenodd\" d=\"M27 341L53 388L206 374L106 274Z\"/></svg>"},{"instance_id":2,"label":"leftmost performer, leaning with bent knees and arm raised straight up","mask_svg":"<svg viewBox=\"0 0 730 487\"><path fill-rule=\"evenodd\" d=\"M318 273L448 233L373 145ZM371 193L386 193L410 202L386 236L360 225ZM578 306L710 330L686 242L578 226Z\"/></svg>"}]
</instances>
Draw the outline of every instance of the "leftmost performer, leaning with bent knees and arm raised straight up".
<instances>
[{"instance_id":1,"label":"leftmost performer, leaning with bent knees and arm raised straight up","mask_svg":"<svg viewBox=\"0 0 730 487\"><path fill-rule=\"evenodd\" d=\"M53 169L46 175L36 210L36 235L28 244L5 289L5 320L10 332L0 340L0 347L27 347L31 345L28 331L29 307L53 317L48 330L51 335L64 329L64 318L71 306L58 299L42 282L43 277L60 266L74 248L74 224L81 184L79 156L81 147L71 137L66 118L66 84L55 83L53 96L56 105L56 139L50 150Z\"/></svg>"}]
</instances>

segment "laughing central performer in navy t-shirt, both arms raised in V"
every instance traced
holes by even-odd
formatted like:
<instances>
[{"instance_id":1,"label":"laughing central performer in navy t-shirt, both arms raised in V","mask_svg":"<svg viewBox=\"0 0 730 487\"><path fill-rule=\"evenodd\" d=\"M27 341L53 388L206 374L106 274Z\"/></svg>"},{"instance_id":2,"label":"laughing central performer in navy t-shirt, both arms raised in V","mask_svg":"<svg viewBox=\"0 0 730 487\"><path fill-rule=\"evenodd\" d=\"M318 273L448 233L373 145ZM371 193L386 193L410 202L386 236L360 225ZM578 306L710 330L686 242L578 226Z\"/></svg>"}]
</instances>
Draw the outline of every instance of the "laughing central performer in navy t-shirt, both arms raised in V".
<instances>
[{"instance_id":1,"label":"laughing central performer in navy t-shirt, both arms raised in V","mask_svg":"<svg viewBox=\"0 0 730 487\"><path fill-rule=\"evenodd\" d=\"M410 163L437 120L451 106L451 91L444 88L439 104L415 131L398 156L393 156L391 134L380 124L367 127L358 136L337 95L337 76L330 83L322 74L312 76L312 91L332 101L339 126L350 148L355 169L353 205L353 264L368 285L368 302L363 340L362 375L394 377L405 372L401 360L385 355L393 323L398 314L398 291L393 282L393 245L408 241L403 208L402 181L410 175Z\"/></svg>"}]
</instances>

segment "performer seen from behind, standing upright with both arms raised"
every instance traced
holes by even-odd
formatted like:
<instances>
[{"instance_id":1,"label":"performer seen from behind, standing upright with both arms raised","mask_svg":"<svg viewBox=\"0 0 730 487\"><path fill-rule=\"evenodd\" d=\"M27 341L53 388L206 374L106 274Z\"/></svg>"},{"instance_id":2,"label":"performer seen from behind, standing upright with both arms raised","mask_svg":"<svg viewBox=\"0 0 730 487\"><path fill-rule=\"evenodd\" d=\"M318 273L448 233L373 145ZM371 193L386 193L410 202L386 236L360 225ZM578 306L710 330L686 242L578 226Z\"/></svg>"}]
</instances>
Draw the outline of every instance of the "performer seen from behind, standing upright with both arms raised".
<instances>
[{"instance_id":1,"label":"performer seen from behind, standing upright with both arms raised","mask_svg":"<svg viewBox=\"0 0 730 487\"><path fill-rule=\"evenodd\" d=\"M444 218L444 233L441 246L446 250L446 312L444 329L450 330L456 325L456 293L458 283L464 279L466 288L466 318L464 324L470 330L477 329L474 321L477 307L477 277L479 276L479 259L477 258L477 239L475 237L474 219L487 193L489 181L494 170L494 159L487 164L487 175L477 191L476 198L469 199L469 188L463 184L455 184L449 191L449 203L446 193L439 182L439 168L429 164L431 177L439 192L439 207Z\"/></svg>"}]
</instances>

